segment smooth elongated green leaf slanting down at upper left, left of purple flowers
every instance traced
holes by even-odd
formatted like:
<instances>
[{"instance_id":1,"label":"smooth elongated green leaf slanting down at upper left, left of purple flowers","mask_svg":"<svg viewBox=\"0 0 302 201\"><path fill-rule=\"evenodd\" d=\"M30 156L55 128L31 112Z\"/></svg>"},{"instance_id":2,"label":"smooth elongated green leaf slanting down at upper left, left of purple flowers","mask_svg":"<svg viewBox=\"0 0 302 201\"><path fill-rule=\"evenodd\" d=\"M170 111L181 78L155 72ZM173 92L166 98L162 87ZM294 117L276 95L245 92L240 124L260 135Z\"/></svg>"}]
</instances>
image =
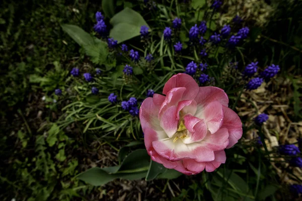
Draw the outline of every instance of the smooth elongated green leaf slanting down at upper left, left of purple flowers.
<instances>
[{"instance_id":1,"label":"smooth elongated green leaf slanting down at upper left, left of purple flowers","mask_svg":"<svg viewBox=\"0 0 302 201\"><path fill-rule=\"evenodd\" d=\"M66 32L79 45L85 46L94 44L94 38L77 25L63 24L61 27L63 31Z\"/></svg>"}]
</instances>

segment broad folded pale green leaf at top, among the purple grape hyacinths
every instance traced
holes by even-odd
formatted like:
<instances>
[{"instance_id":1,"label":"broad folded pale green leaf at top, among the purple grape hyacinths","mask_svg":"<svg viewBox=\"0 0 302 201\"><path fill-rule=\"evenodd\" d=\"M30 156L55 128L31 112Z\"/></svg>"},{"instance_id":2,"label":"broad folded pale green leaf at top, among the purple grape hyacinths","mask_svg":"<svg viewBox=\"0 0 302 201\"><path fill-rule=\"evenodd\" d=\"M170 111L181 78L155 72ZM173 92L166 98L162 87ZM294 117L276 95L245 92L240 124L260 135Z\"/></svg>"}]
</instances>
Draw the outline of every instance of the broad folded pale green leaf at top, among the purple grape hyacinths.
<instances>
[{"instance_id":1,"label":"broad folded pale green leaf at top, among the purple grape hyacinths","mask_svg":"<svg viewBox=\"0 0 302 201\"><path fill-rule=\"evenodd\" d=\"M110 24L113 26L110 31L110 37L113 37L118 43L139 36L141 26L145 25L149 27L139 13L129 8L125 8L113 16ZM150 27L149 31L151 31Z\"/></svg>"}]
</instances>

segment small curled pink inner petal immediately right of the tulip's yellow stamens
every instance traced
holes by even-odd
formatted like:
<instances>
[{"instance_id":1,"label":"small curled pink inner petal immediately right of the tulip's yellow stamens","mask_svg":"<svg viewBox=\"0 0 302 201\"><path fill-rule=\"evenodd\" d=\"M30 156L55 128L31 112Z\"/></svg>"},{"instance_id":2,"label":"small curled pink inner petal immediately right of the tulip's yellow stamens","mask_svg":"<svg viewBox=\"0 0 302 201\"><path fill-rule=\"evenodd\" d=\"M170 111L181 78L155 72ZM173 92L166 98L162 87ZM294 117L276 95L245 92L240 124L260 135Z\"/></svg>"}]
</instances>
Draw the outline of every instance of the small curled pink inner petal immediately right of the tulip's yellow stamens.
<instances>
[{"instance_id":1,"label":"small curled pink inner petal immediately right of the tulip's yellow stamens","mask_svg":"<svg viewBox=\"0 0 302 201\"><path fill-rule=\"evenodd\" d=\"M184 123L188 129L188 136L183 140L185 144L201 141L207 134L207 126L204 120L192 115L186 115Z\"/></svg>"}]
</instances>

